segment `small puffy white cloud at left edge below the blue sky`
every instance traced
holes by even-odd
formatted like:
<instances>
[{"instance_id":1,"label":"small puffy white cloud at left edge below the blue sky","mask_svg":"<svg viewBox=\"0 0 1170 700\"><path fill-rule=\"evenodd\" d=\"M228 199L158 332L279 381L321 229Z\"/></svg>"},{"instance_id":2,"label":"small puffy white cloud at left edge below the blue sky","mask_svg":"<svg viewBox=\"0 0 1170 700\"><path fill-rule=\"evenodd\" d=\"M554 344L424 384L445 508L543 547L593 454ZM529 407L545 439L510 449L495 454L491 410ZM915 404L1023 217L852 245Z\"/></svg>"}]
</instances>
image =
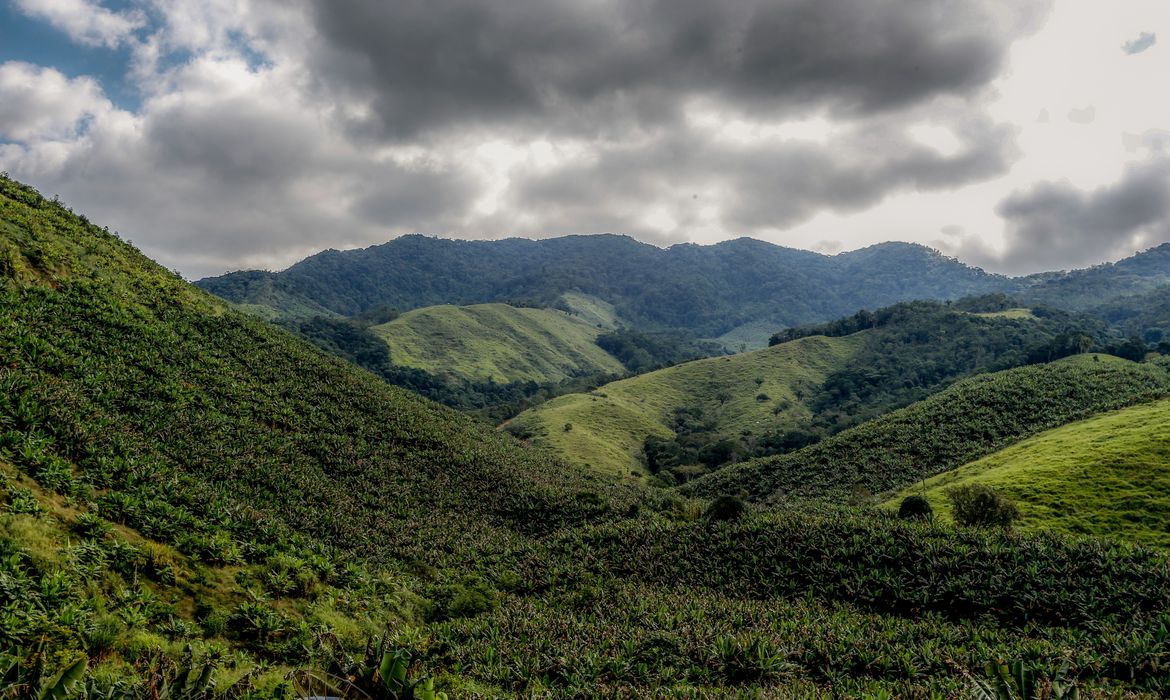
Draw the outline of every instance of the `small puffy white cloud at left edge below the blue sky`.
<instances>
[{"instance_id":1,"label":"small puffy white cloud at left edge below the blue sky","mask_svg":"<svg viewBox=\"0 0 1170 700\"><path fill-rule=\"evenodd\" d=\"M0 63L0 139L70 138L85 119L109 109L92 78L70 80L51 68L15 61Z\"/></svg>"}]
</instances>

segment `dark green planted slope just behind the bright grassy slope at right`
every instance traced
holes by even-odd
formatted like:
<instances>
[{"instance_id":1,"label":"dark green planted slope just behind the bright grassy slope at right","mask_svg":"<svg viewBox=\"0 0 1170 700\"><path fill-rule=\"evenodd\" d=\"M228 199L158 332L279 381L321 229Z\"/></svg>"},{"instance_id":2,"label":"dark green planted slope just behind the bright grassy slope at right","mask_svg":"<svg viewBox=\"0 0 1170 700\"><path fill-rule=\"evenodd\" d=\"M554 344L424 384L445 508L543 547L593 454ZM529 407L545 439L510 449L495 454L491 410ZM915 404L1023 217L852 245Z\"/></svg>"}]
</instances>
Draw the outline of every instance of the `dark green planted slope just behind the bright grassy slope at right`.
<instances>
[{"instance_id":1,"label":"dark green planted slope just behind the bright grassy slope at right","mask_svg":"<svg viewBox=\"0 0 1170 700\"><path fill-rule=\"evenodd\" d=\"M1170 394L1150 363L1083 355L980 375L804 449L732 465L683 487L698 496L845 501L902 488L1030 435Z\"/></svg>"}]
</instances>

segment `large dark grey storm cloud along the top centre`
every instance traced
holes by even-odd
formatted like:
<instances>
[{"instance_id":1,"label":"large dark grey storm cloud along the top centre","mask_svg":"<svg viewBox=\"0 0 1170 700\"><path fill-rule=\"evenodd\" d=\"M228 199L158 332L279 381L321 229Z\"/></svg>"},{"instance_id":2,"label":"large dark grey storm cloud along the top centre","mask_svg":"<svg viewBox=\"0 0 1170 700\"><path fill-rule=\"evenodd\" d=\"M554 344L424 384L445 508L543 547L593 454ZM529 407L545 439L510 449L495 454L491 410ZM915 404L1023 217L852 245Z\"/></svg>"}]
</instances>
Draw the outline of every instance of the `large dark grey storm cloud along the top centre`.
<instances>
[{"instance_id":1,"label":"large dark grey storm cloud along the top centre","mask_svg":"<svg viewBox=\"0 0 1170 700\"><path fill-rule=\"evenodd\" d=\"M958 0L308 0L321 85L364 126L614 133L690 97L769 118L859 116L993 78L1047 2Z\"/></svg>"}]
</instances>

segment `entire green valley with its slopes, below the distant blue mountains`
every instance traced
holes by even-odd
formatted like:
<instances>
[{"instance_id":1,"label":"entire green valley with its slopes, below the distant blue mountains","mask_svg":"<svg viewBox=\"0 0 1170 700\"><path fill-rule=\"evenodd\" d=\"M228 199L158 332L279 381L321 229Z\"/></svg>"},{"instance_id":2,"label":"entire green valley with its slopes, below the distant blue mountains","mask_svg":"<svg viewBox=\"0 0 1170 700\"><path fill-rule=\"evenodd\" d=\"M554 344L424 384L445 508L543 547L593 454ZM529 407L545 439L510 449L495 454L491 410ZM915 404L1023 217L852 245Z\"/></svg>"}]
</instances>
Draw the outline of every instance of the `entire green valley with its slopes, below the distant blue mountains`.
<instances>
[{"instance_id":1,"label":"entire green valley with its slopes, below the distant blue mountains","mask_svg":"<svg viewBox=\"0 0 1170 700\"><path fill-rule=\"evenodd\" d=\"M915 301L688 361L661 335L681 331L593 295L355 311L274 282L273 323L7 178L0 222L18 695L962 696L999 660L1090 696L1170 691L1170 370L1103 317ZM497 431L391 385L387 358L641 373ZM681 461L651 474L655 435ZM951 524L948 479L1024 520ZM895 515L922 480L936 519Z\"/></svg>"}]
</instances>

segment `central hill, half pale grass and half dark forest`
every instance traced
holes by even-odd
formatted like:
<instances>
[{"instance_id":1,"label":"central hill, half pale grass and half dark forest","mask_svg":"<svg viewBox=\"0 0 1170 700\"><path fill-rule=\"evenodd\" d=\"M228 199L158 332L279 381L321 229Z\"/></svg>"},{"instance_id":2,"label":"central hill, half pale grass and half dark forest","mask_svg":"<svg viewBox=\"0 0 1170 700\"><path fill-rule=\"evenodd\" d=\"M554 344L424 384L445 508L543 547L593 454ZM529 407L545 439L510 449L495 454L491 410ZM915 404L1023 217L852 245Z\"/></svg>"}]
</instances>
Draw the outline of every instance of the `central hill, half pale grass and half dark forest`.
<instances>
[{"instance_id":1,"label":"central hill, half pale grass and half dark forest","mask_svg":"<svg viewBox=\"0 0 1170 700\"><path fill-rule=\"evenodd\" d=\"M1011 303L999 296L903 302L789 329L764 350L558 397L508 430L583 467L686 481L804 447L962 377L1047 357L1074 329L1103 334L1093 320L1038 317Z\"/></svg>"}]
</instances>

